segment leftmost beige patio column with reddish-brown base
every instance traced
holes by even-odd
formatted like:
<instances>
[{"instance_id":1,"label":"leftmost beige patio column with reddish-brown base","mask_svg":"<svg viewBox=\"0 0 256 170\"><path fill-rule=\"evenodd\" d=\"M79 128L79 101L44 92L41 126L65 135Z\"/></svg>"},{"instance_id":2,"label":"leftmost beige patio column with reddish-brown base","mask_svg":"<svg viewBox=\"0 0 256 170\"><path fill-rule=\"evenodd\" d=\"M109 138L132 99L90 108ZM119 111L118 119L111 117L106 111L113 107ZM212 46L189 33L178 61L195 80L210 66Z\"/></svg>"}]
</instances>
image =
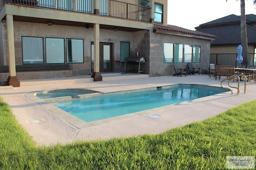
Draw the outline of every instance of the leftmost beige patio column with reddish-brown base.
<instances>
[{"instance_id":1,"label":"leftmost beige patio column with reddish-brown base","mask_svg":"<svg viewBox=\"0 0 256 170\"><path fill-rule=\"evenodd\" d=\"M7 28L7 55L9 62L9 75L7 84L13 87L20 87L20 81L16 76L16 63L15 63L15 48L14 48L14 29L12 15L6 15L6 28Z\"/></svg>"}]
</instances>

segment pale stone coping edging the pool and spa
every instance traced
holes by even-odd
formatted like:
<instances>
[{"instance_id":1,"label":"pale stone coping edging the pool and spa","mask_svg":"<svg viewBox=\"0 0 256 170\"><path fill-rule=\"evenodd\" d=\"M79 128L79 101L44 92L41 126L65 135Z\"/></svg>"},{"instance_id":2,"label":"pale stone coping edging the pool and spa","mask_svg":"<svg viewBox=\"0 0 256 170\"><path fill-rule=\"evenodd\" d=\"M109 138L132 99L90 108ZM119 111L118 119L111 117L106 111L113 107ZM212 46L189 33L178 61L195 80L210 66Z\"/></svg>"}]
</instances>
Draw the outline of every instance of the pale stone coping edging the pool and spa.
<instances>
[{"instance_id":1,"label":"pale stone coping edging the pool and spa","mask_svg":"<svg viewBox=\"0 0 256 170\"><path fill-rule=\"evenodd\" d=\"M138 92L138 91L144 91L144 90L152 90L152 89L156 89L156 88L169 88L170 86L198 86L198 87L206 87L206 86L210 86L211 88L217 88L217 89L222 89L223 88L219 87L219 86L211 86L211 85L201 85L201 84L189 84L189 83L180 83L180 84L168 84L165 86L154 86L154 87L148 87L148 88L138 88L138 89L132 89L132 90L119 90L119 91L112 91L112 92L100 92L97 90L97 93L92 93L92 94L83 94L83 95L78 95L79 97L84 97L84 98L91 98L94 97L95 95L98 96L106 96L106 95L112 95L112 94L124 94L124 93L130 93L130 92ZM62 88L65 89L65 88ZM54 90L62 90L60 88L56 88ZM66 89L70 89L70 88L66 88ZM80 88L82 89L82 88ZM82 89L83 90L83 89ZM86 90L86 88L84 89ZM71 98L71 96L65 96L65 97L58 97L58 98L51 98L50 102L46 102L46 100L49 99L40 99L38 97L36 97L34 94L38 93L38 92L42 92L42 91L34 91L34 92L30 92L30 93L26 93L25 96L27 98L29 98L30 100L32 100L33 102L36 102L37 104L39 104L40 106L48 109L50 112L54 113L55 115L57 115L58 117L60 117L61 119L63 119L64 121L66 121L67 123L69 123L70 125L73 125L74 127L78 128L78 129L84 129L87 127L93 127L96 125L102 125L105 123L110 123L110 122L114 122L114 121L119 121L119 120L124 120L124 119L128 119L131 117L136 117L136 116L141 116L141 115L145 115L145 114L151 114L154 113L156 111L165 111L168 109L171 109L173 107L175 107L176 104L171 104L168 106L162 106L162 107L156 107L153 109L148 109L148 110L144 110L144 111L138 111L138 112L134 112L134 113L129 113L129 114L124 114L124 115L119 115L116 117L110 117L110 118L106 118L106 119L101 119L101 120L97 120L97 121L90 121L90 122L85 122L81 119L79 119L78 117L75 117L73 115L71 115L70 113L54 106L53 104L51 104L53 101L67 101L67 100L77 100L77 99L82 99L82 98ZM197 102L202 102L208 99L215 99L218 98L219 96L226 96L226 95L230 95L230 91L228 92L224 92L224 93L220 93L220 94L215 94L212 96L206 96L203 98L197 98L194 100L188 100L185 102L181 102L178 104L189 104L189 103L197 103ZM152 119L157 119L157 118L152 118Z\"/></svg>"}]
</instances>

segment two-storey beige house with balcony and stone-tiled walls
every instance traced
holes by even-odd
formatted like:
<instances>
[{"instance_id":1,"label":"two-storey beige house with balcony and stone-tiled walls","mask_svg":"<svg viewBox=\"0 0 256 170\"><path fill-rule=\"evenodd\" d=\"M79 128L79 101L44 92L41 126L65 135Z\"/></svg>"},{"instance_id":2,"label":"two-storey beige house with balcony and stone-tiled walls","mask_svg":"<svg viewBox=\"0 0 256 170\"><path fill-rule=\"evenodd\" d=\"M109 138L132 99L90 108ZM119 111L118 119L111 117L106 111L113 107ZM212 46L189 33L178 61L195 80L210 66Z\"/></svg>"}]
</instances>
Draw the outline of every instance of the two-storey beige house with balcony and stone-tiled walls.
<instances>
[{"instance_id":1,"label":"two-storey beige house with balcony and stone-tiled walls","mask_svg":"<svg viewBox=\"0 0 256 170\"><path fill-rule=\"evenodd\" d=\"M167 0L0 4L0 81L16 87L19 80L90 74L101 81L102 72L114 72L116 61L137 52L148 62L149 76L174 74L173 62L207 68L215 38L167 25Z\"/></svg>"}]
</instances>

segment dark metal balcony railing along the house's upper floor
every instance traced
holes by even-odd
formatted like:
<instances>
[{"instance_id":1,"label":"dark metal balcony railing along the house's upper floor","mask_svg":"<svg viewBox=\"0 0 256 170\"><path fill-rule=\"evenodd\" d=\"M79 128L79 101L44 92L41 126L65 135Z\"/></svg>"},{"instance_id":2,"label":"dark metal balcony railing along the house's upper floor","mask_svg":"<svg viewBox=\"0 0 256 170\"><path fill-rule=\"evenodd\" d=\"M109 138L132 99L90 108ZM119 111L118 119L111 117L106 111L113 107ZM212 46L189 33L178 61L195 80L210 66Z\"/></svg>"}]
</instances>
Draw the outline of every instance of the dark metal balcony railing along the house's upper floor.
<instances>
[{"instance_id":1,"label":"dark metal balcony railing along the house's upper floor","mask_svg":"<svg viewBox=\"0 0 256 170\"><path fill-rule=\"evenodd\" d=\"M4 0L4 3L52 10L94 14L94 0ZM150 22L150 8L116 0L99 0L99 15Z\"/></svg>"}]
</instances>

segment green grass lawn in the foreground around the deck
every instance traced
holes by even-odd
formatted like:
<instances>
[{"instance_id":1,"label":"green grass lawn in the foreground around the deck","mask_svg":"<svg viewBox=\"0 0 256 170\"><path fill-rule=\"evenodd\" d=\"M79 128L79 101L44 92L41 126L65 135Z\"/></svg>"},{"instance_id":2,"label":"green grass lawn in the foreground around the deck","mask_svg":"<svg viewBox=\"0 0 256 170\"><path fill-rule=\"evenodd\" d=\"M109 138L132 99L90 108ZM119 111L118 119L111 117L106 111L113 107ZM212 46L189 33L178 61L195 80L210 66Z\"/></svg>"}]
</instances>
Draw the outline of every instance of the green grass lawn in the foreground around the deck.
<instances>
[{"instance_id":1,"label":"green grass lawn in the foreground around the deck","mask_svg":"<svg viewBox=\"0 0 256 170\"><path fill-rule=\"evenodd\" d=\"M0 99L0 169L226 169L226 156L256 156L255 106L158 135L38 147Z\"/></svg>"}]
</instances>

